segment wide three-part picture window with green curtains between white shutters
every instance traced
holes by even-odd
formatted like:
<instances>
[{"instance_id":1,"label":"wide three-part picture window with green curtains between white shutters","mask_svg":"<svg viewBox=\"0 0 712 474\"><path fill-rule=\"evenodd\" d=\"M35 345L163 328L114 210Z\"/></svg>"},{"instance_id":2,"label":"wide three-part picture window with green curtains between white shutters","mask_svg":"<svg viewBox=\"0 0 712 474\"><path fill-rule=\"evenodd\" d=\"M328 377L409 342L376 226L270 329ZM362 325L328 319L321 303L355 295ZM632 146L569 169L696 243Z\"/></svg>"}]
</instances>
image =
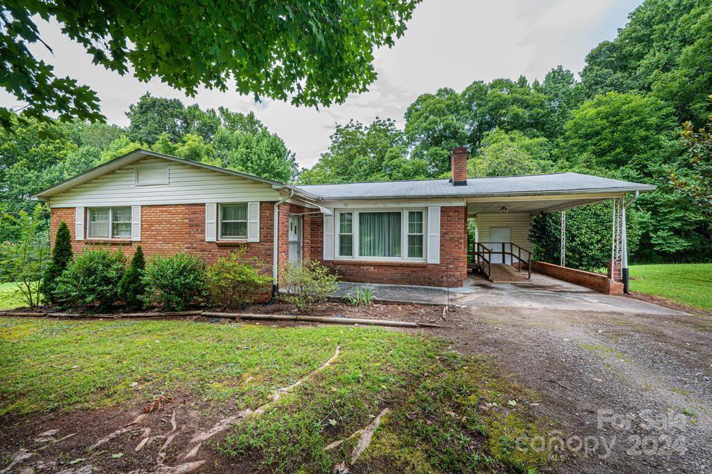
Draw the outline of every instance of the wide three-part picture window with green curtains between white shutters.
<instances>
[{"instance_id":1,"label":"wide three-part picture window with green curtains between white shutters","mask_svg":"<svg viewBox=\"0 0 712 474\"><path fill-rule=\"evenodd\" d=\"M337 258L425 259L424 210L342 210L336 213L335 227Z\"/></svg>"}]
</instances>

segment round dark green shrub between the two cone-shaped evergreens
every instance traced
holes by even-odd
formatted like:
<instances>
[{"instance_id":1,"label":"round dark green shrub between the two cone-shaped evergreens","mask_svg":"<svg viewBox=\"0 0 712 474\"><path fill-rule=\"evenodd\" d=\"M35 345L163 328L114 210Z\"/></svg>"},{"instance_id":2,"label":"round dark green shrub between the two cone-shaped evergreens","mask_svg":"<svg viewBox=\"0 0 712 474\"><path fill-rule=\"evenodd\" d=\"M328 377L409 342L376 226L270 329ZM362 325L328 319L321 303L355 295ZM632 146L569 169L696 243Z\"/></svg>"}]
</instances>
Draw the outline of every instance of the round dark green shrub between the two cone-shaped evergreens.
<instances>
[{"instance_id":1,"label":"round dark green shrub between the two cone-shaped evergreens","mask_svg":"<svg viewBox=\"0 0 712 474\"><path fill-rule=\"evenodd\" d=\"M57 302L76 311L108 311L119 298L125 270L126 257L119 250L85 249L57 279Z\"/></svg>"}]
</instances>

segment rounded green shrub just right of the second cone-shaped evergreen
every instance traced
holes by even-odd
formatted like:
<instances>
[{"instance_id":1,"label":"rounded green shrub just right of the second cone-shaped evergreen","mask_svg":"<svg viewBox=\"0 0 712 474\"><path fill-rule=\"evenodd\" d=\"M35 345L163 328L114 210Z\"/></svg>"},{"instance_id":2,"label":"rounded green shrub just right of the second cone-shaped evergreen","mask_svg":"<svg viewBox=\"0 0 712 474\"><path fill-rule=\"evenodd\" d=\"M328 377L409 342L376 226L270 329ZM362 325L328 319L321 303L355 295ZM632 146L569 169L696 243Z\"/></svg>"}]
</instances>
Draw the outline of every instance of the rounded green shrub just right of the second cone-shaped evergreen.
<instances>
[{"instance_id":1,"label":"rounded green shrub just right of the second cone-shaped evergreen","mask_svg":"<svg viewBox=\"0 0 712 474\"><path fill-rule=\"evenodd\" d=\"M190 254L154 257L146 267L143 282L146 302L168 311L183 311L205 291L205 262Z\"/></svg>"}]
</instances>

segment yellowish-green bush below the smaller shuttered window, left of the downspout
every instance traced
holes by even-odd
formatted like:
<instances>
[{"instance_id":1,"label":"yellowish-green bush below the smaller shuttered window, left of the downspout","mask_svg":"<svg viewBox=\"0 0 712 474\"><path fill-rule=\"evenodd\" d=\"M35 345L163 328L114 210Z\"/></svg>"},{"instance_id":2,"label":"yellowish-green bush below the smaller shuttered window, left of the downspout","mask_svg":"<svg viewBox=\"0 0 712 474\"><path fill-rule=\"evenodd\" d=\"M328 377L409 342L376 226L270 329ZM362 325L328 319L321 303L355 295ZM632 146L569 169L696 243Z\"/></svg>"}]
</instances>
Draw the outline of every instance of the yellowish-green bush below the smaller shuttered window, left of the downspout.
<instances>
[{"instance_id":1,"label":"yellowish-green bush below the smaller shuttered window, left of the downspout","mask_svg":"<svg viewBox=\"0 0 712 474\"><path fill-rule=\"evenodd\" d=\"M246 247L220 257L209 267L206 282L212 304L236 308L254 301L256 292L270 286L272 277L261 272L265 262L258 258L244 259Z\"/></svg>"}]
</instances>

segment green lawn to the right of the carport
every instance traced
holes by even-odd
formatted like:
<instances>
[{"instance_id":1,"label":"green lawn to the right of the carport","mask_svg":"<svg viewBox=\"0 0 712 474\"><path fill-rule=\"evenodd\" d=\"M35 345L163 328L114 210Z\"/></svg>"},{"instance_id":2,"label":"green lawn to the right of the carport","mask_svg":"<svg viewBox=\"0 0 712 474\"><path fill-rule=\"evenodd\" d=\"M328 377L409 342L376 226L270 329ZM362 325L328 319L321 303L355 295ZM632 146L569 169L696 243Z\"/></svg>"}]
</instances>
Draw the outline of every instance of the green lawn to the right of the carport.
<instances>
[{"instance_id":1,"label":"green lawn to the right of the carport","mask_svg":"<svg viewBox=\"0 0 712 474\"><path fill-rule=\"evenodd\" d=\"M633 265L630 289L712 309L712 263Z\"/></svg>"}]
</instances>

